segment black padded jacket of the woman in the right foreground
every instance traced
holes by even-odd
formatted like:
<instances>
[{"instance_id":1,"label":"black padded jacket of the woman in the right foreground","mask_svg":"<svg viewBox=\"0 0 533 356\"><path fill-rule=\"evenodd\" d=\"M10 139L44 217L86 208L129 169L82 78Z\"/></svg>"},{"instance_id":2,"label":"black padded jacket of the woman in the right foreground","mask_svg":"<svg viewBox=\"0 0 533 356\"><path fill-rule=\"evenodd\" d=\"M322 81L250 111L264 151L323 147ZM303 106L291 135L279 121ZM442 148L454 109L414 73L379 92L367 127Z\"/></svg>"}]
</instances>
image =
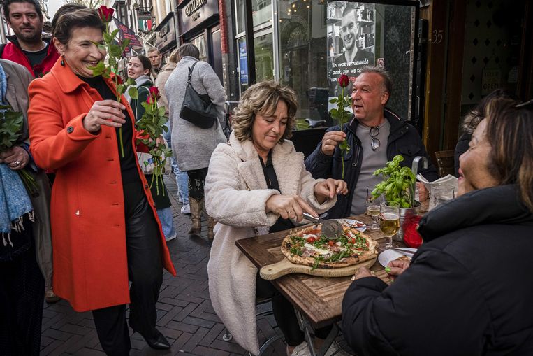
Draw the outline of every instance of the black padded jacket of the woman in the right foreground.
<instances>
[{"instance_id":1,"label":"black padded jacket of the woman in the right foreground","mask_svg":"<svg viewBox=\"0 0 533 356\"><path fill-rule=\"evenodd\" d=\"M533 214L516 185L435 208L392 285L354 281L342 302L357 355L533 355Z\"/></svg>"}]
</instances>

